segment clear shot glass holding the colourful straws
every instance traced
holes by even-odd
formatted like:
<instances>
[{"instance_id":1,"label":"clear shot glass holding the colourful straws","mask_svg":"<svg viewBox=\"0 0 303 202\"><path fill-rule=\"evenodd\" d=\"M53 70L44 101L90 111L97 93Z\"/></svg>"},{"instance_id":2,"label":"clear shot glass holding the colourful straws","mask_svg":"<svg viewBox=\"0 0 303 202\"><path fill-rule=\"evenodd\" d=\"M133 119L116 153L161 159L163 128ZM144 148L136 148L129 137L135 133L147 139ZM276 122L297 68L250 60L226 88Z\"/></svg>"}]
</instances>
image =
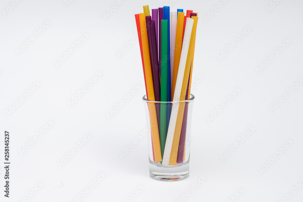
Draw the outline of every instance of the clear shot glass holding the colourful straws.
<instances>
[{"instance_id":1,"label":"clear shot glass holding the colourful straws","mask_svg":"<svg viewBox=\"0 0 303 202\"><path fill-rule=\"evenodd\" d=\"M189 176L191 115L195 96L185 101L159 102L143 96L148 134L149 175L178 181Z\"/></svg>"}]
</instances>

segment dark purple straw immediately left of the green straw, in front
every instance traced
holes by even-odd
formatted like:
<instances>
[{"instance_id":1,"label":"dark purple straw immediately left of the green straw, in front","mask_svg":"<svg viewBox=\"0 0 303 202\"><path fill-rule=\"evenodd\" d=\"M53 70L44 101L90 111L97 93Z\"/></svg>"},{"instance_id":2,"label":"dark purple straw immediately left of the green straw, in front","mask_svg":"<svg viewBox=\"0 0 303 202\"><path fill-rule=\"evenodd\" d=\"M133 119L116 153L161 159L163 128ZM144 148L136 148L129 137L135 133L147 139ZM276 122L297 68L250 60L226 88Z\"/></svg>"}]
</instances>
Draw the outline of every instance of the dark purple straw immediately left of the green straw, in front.
<instances>
[{"instance_id":1,"label":"dark purple straw immediately left of the green straw, in front","mask_svg":"<svg viewBox=\"0 0 303 202\"><path fill-rule=\"evenodd\" d=\"M145 17L146 18L146 17ZM160 75L159 75L159 64L158 64L158 48L157 48L157 38L156 38L156 28L155 21L151 20L149 24L149 36L151 41L151 72L153 73L153 84L155 92L155 101L160 101ZM158 123L158 133L160 136L160 104L155 103L157 123ZM160 138L160 137L159 137Z\"/></svg>"}]
</instances>

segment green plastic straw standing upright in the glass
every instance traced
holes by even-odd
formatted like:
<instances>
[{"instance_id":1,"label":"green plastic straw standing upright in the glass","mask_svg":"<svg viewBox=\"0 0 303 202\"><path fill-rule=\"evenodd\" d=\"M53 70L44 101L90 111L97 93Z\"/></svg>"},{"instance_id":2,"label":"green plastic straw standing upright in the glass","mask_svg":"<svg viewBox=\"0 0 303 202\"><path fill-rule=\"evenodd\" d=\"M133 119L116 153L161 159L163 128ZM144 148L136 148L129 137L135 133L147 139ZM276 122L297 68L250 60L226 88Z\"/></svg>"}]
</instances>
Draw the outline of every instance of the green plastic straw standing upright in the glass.
<instances>
[{"instance_id":1,"label":"green plastic straw standing upright in the glass","mask_svg":"<svg viewBox=\"0 0 303 202\"><path fill-rule=\"evenodd\" d=\"M167 55L167 23L168 20L161 20L161 75L162 75L162 84L161 84L161 102L167 101L167 63L168 61L165 58ZM161 155L164 154L165 142L166 142L166 111L167 104L161 103L160 105L160 147Z\"/></svg>"}]
</instances>

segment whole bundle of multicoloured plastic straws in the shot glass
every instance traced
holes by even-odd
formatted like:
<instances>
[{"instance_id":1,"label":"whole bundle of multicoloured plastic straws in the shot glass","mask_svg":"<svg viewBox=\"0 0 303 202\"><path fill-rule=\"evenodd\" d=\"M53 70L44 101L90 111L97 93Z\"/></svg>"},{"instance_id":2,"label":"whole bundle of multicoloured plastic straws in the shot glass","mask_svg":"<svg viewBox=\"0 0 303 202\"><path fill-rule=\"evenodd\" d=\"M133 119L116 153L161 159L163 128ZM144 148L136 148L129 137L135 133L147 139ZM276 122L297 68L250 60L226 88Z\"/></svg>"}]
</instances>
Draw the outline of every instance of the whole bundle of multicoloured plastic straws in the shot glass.
<instances>
[{"instance_id":1,"label":"whole bundle of multicoloured plastic straws in the shot glass","mask_svg":"<svg viewBox=\"0 0 303 202\"><path fill-rule=\"evenodd\" d=\"M184 101L190 98L198 13L169 6L135 14L146 98ZM185 161L188 102L148 103L155 162L175 165Z\"/></svg>"}]
</instances>

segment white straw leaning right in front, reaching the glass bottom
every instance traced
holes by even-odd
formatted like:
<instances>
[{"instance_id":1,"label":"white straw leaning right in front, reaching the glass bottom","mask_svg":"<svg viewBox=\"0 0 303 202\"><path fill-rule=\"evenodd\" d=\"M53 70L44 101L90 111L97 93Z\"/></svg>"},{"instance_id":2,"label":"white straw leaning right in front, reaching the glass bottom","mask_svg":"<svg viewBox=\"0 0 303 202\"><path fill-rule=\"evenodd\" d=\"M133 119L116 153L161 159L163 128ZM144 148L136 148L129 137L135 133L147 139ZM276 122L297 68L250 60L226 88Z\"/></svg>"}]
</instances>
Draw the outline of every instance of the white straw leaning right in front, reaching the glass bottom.
<instances>
[{"instance_id":1,"label":"white straw leaning right in front, reaching the glass bottom","mask_svg":"<svg viewBox=\"0 0 303 202\"><path fill-rule=\"evenodd\" d=\"M194 23L194 20L191 18L186 19L187 26L185 27L185 37L190 38L191 36L191 30L192 25ZM189 48L189 40L183 41L182 51L181 51L181 57L180 57L180 63L179 63L179 69L178 69L178 75L177 75L177 81L176 81L176 87L175 87L175 93L173 101L180 101L180 95L181 95L181 88L183 83L183 77L185 73L185 66L186 66L186 59L188 55L188 48ZM188 78L188 77L187 77ZM185 97L185 95L184 95ZM171 108L171 117L169 121L168 126L168 132L166 136L165 141L165 149L162 159L163 165L168 165L171 155L171 147L173 143L174 133L175 133L175 126L177 122L177 116L178 116L178 109L179 109L179 102L174 103Z\"/></svg>"}]
</instances>

